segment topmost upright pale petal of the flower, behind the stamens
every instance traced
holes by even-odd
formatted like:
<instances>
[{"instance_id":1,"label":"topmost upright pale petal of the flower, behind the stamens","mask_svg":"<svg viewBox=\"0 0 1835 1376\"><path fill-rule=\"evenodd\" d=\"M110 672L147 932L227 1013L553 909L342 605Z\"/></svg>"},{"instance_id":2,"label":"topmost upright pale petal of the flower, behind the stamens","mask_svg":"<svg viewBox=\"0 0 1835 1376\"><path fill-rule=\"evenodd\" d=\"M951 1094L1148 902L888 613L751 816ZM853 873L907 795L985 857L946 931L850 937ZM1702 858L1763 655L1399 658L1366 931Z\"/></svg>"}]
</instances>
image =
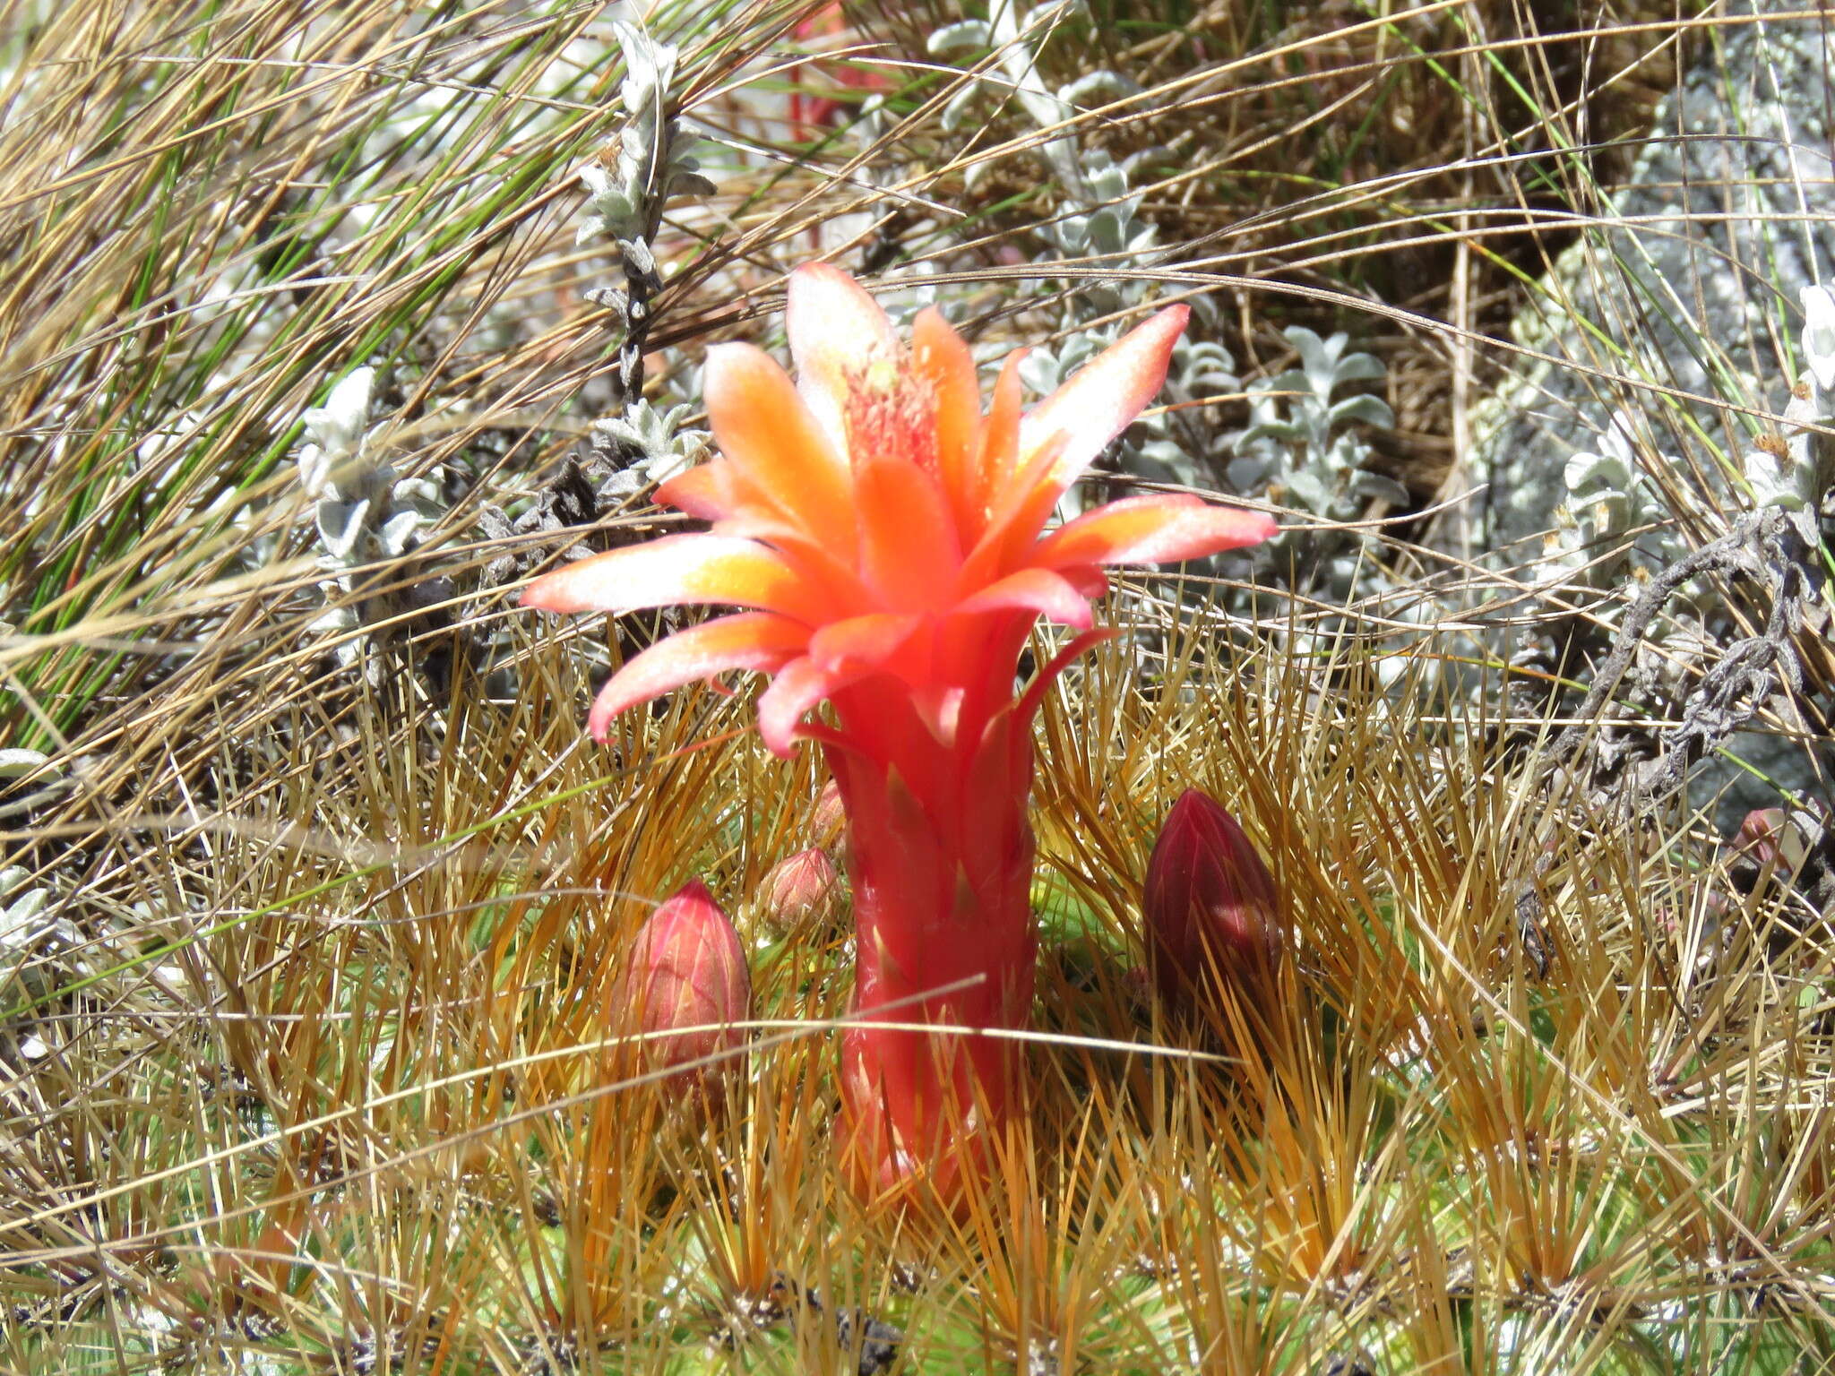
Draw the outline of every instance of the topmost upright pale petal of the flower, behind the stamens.
<instances>
[{"instance_id":1,"label":"topmost upright pale petal of the flower, behind the stamens","mask_svg":"<svg viewBox=\"0 0 1835 1376\"><path fill-rule=\"evenodd\" d=\"M895 376L903 354L892 321L840 268L806 262L791 273L784 323L796 391L837 453L848 453L848 391L875 369Z\"/></svg>"}]
</instances>

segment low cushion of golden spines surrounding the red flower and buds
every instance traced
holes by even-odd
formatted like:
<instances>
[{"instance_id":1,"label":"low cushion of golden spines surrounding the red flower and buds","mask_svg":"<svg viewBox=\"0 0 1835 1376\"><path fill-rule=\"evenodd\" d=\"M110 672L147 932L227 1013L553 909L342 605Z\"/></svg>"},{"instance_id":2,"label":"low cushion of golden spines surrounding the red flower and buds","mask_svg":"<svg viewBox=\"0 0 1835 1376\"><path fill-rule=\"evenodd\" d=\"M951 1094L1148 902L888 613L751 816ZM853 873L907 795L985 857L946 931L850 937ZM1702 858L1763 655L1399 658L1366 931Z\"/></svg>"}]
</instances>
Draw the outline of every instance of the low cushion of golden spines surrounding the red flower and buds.
<instances>
[{"instance_id":1,"label":"low cushion of golden spines surrounding the red flower and buds","mask_svg":"<svg viewBox=\"0 0 1835 1376\"><path fill-rule=\"evenodd\" d=\"M683 695L607 769L543 648L514 705L404 708L338 772L244 778L235 829L149 855L233 892L226 930L33 1009L55 1053L9 1092L33 1163L9 1361L116 1332L198 1369L833 1369L851 1314L857 1345L894 1325L938 1370L1802 1350L1828 971L1765 952L1782 895L1708 939L1718 881L1675 864L1683 838L1567 831L1538 978L1519 857L1490 840L1523 805L1503 771L1367 664L1321 694L1200 644L1110 648L1050 708L1035 1101L956 1213L839 1183L833 932L754 950L756 1038L712 1110L606 1035L644 895L743 893L804 838L809 761L738 732L745 703ZM486 727L523 749L464 749ZM1296 960L1272 1016L1169 1026L1130 974L1187 782L1277 873Z\"/></svg>"}]
</instances>

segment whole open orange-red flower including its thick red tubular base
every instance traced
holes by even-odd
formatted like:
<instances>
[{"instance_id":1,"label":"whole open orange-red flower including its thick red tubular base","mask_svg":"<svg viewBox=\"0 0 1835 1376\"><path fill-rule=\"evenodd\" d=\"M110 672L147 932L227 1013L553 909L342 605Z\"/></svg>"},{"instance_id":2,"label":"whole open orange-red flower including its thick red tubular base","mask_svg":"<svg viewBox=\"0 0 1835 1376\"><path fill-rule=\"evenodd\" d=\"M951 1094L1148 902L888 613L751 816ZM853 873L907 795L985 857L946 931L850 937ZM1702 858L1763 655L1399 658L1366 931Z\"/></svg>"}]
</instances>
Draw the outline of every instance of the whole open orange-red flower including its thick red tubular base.
<instances>
[{"instance_id":1,"label":"whole open orange-red flower including its thick red tubular base","mask_svg":"<svg viewBox=\"0 0 1835 1376\"><path fill-rule=\"evenodd\" d=\"M844 1112L862 1183L947 1187L1013 1097L1009 1044L883 1024L1020 1027L1035 936L1031 717L1103 633L1090 600L1118 563L1191 560L1273 534L1189 495L1130 497L1044 532L1059 497L1165 380L1187 310L1169 306L1022 415L1009 356L987 413L967 345L936 310L903 345L846 273L791 273L798 380L751 345L708 352L721 457L657 499L712 523L539 578L523 604L626 613L740 607L677 631L604 686L587 725L730 670L773 675L765 745L828 752L848 813L855 1004ZM1039 616L1083 635L1024 692ZM804 717L828 703L835 725ZM888 1007L890 1005L890 1007ZM956 1147L963 1147L958 1152Z\"/></svg>"}]
</instances>

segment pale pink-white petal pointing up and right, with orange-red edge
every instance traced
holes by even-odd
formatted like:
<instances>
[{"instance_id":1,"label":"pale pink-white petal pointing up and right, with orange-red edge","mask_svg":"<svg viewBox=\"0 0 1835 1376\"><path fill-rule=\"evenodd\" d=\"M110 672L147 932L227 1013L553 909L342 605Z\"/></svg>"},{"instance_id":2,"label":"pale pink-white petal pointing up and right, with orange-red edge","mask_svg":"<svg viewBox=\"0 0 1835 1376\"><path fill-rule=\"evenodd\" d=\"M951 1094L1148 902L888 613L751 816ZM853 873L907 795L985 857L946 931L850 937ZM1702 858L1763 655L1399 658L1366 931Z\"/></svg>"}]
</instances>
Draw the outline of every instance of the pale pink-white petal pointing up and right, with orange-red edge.
<instances>
[{"instance_id":1,"label":"pale pink-white petal pointing up and right, with orange-red edge","mask_svg":"<svg viewBox=\"0 0 1835 1376\"><path fill-rule=\"evenodd\" d=\"M1020 422L1022 462L1053 435L1064 435L1064 449L1051 473L1051 483L1062 495L1160 391L1173 345L1189 316L1187 306L1167 306L1136 325L1028 411Z\"/></svg>"}]
</instances>

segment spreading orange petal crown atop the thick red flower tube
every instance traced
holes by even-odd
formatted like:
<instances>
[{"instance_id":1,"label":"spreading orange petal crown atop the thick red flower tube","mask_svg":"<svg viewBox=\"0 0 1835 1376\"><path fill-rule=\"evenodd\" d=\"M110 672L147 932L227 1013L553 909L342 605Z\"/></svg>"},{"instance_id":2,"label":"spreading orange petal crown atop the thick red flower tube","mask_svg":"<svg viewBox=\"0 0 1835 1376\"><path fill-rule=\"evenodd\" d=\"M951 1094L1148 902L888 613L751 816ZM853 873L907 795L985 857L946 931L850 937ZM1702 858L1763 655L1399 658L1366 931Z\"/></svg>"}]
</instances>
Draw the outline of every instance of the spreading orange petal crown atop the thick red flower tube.
<instances>
[{"instance_id":1,"label":"spreading orange petal crown atop the thick red flower tube","mask_svg":"<svg viewBox=\"0 0 1835 1376\"><path fill-rule=\"evenodd\" d=\"M817 703L873 675L901 682L947 741L967 725L965 703L985 721L985 699L1007 695L1035 616L1090 627L1103 567L1266 539L1270 517L1189 495L1130 497L1040 536L1160 389L1185 316L1162 310L1026 415L1013 354L984 416L969 349L941 314L925 310L905 349L853 279L798 268L798 382L752 345L708 350L721 457L657 492L712 530L582 560L523 594L547 611L747 609L631 659L593 705L593 736L672 688L754 670L774 675L758 719L776 754L791 752Z\"/></svg>"}]
</instances>

